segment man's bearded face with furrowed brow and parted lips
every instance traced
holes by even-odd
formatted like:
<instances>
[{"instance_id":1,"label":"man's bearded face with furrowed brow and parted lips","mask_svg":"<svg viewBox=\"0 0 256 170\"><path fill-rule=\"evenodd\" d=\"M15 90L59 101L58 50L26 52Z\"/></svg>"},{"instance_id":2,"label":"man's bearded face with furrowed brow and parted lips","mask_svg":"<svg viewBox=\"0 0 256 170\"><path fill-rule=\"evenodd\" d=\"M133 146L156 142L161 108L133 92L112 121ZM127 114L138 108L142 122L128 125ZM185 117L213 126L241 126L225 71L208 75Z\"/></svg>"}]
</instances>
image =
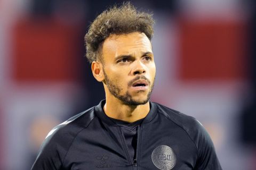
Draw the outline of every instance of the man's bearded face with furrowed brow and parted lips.
<instances>
[{"instance_id":1,"label":"man's bearded face with furrowed brow and parted lips","mask_svg":"<svg viewBox=\"0 0 256 170\"><path fill-rule=\"evenodd\" d=\"M107 95L126 105L146 104L153 90L156 67L145 33L111 35L102 45L102 58Z\"/></svg>"}]
</instances>

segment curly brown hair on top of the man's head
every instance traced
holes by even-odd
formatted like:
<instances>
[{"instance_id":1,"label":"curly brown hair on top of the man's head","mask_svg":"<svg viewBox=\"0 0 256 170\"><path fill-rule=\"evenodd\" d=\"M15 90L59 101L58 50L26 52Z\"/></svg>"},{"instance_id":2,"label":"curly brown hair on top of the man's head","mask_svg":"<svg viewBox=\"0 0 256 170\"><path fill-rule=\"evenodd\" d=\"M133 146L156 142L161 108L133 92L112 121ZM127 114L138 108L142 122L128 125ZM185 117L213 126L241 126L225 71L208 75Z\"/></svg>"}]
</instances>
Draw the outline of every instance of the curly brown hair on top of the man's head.
<instances>
[{"instance_id":1,"label":"curly brown hair on top of the man's head","mask_svg":"<svg viewBox=\"0 0 256 170\"><path fill-rule=\"evenodd\" d=\"M130 2L103 11L91 23L86 33L86 57L90 63L103 61L101 56L102 43L111 34L143 32L149 40L153 37L154 20L151 13L139 12Z\"/></svg>"}]
</instances>

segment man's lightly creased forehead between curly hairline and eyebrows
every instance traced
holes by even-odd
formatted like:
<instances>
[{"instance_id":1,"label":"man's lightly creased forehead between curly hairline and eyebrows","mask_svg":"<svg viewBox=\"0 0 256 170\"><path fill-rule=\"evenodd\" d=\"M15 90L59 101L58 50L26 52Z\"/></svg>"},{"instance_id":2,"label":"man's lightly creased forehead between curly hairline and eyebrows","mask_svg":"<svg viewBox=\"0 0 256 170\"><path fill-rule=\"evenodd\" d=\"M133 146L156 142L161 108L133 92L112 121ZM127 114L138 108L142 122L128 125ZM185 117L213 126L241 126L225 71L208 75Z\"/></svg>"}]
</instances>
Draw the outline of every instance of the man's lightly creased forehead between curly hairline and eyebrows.
<instances>
[{"instance_id":1,"label":"man's lightly creased forehead between curly hairline and eyebrows","mask_svg":"<svg viewBox=\"0 0 256 170\"><path fill-rule=\"evenodd\" d=\"M132 55L151 52L151 42L145 33L132 32L122 35L110 35L102 45L103 57Z\"/></svg>"}]
</instances>

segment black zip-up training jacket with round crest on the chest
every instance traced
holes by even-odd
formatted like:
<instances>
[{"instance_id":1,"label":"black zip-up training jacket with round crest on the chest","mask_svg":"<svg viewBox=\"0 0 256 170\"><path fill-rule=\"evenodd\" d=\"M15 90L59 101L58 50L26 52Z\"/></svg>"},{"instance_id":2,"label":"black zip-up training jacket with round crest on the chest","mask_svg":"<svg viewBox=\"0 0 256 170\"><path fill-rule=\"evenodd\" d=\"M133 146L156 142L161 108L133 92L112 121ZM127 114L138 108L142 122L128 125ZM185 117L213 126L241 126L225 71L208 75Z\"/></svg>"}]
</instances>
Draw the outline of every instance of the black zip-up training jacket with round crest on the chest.
<instances>
[{"instance_id":1,"label":"black zip-up training jacket with round crest on the chest","mask_svg":"<svg viewBox=\"0 0 256 170\"><path fill-rule=\"evenodd\" d=\"M103 111L105 102L56 126L32 169L221 169L201 123L153 102L138 126L137 158L131 160L121 129Z\"/></svg>"}]
</instances>

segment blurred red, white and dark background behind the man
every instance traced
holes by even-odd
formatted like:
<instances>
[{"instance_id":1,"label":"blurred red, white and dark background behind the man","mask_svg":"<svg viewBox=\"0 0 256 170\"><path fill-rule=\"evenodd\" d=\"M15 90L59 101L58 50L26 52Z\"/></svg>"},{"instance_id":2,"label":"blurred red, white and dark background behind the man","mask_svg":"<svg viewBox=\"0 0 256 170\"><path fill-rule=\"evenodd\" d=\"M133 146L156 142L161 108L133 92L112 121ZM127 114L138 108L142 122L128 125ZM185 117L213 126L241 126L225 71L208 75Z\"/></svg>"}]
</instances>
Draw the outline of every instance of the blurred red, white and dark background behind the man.
<instances>
[{"instance_id":1,"label":"blurred red, white and dark background behind the man","mask_svg":"<svg viewBox=\"0 0 256 170\"><path fill-rule=\"evenodd\" d=\"M256 169L256 1L131 1L154 12L151 100L196 117L223 169ZM53 126L104 98L84 35L122 1L0 0L0 169L30 169Z\"/></svg>"}]
</instances>

